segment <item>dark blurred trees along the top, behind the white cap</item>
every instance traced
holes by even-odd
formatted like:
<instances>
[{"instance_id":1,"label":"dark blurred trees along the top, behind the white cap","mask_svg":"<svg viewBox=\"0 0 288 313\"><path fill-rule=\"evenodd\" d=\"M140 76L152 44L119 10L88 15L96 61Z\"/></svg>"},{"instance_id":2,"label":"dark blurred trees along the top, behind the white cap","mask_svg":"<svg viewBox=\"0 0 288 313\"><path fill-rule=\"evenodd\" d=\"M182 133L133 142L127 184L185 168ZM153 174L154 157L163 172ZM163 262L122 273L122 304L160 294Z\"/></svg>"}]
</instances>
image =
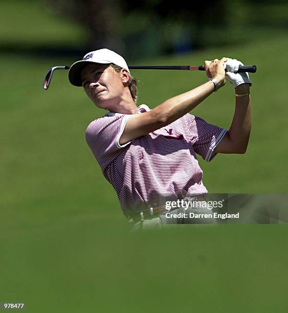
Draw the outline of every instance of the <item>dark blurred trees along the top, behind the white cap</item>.
<instances>
[{"instance_id":1,"label":"dark blurred trees along the top, behind the white cap","mask_svg":"<svg viewBox=\"0 0 288 313\"><path fill-rule=\"evenodd\" d=\"M275 26L287 24L284 0L42 1L56 14L86 26L89 39L85 49L106 47L132 58L231 44L235 38L244 40L250 26L271 25L271 9L277 13Z\"/></svg>"}]
</instances>

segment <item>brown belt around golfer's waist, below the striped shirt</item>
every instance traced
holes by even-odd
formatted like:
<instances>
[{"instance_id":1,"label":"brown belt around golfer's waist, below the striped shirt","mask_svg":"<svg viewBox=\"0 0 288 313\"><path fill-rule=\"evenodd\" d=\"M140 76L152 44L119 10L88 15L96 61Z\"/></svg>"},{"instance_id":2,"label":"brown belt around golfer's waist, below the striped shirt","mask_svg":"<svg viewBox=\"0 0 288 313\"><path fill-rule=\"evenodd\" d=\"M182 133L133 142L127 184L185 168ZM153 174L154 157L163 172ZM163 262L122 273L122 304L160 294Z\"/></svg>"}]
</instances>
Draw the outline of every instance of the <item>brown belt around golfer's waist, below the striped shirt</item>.
<instances>
[{"instance_id":1,"label":"brown belt around golfer's waist, below the striped shirt","mask_svg":"<svg viewBox=\"0 0 288 313\"><path fill-rule=\"evenodd\" d=\"M187 197L187 199L191 200L191 201L205 201L206 199L206 195L198 195L198 196L191 196L191 197ZM176 210L177 208L173 208L172 210ZM160 207L154 207L154 208L150 208L147 210L142 210L139 212L126 212L126 216L128 219L133 219L133 221L137 222L140 220L145 220L145 219L152 219L155 217L158 217L159 215L161 215L161 213L167 213L170 210L166 209L165 206L160 206Z\"/></svg>"}]
</instances>

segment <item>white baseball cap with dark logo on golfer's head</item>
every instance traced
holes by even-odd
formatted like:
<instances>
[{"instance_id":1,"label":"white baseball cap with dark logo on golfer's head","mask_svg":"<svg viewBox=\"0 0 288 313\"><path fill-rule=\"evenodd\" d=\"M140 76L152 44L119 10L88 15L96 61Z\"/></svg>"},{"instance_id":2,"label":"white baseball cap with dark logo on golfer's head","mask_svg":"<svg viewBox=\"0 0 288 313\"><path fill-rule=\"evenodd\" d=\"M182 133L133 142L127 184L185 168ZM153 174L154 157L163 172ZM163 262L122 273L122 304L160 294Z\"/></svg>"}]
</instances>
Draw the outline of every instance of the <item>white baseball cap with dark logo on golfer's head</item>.
<instances>
[{"instance_id":1,"label":"white baseball cap with dark logo on golfer's head","mask_svg":"<svg viewBox=\"0 0 288 313\"><path fill-rule=\"evenodd\" d=\"M100 49L88 52L84 56L83 60L77 61L71 65L68 77L72 85L81 86L81 71L89 63L101 63L101 64L114 63L118 66L121 66L121 68L126 69L130 73L128 65L124 58L122 58L119 54L112 50Z\"/></svg>"}]
</instances>

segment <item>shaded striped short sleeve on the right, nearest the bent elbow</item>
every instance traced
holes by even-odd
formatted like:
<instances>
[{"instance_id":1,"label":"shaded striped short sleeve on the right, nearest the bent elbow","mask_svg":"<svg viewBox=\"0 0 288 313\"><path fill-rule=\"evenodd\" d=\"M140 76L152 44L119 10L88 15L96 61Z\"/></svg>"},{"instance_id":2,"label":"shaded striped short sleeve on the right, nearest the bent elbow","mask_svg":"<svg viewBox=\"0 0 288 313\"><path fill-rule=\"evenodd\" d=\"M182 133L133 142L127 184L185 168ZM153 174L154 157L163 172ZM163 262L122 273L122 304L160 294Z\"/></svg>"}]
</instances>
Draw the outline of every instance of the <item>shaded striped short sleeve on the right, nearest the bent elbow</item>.
<instances>
[{"instance_id":1,"label":"shaded striped short sleeve on the right, nearest the bent elbow","mask_svg":"<svg viewBox=\"0 0 288 313\"><path fill-rule=\"evenodd\" d=\"M227 129L209 124L191 114L186 114L186 121L194 151L205 161L210 162L217 155L214 150Z\"/></svg>"}]
</instances>

